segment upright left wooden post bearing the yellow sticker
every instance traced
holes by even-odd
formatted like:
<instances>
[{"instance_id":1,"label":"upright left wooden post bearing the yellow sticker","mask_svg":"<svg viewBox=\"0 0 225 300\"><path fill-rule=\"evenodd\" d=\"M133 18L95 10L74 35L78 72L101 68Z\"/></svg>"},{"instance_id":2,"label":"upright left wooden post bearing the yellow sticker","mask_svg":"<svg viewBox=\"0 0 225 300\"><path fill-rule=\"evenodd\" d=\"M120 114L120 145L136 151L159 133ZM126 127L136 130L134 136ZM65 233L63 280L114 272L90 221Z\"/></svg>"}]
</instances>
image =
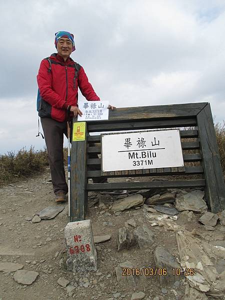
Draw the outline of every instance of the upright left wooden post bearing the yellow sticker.
<instances>
[{"instance_id":1,"label":"upright left wooden post bearing the yellow sticker","mask_svg":"<svg viewBox=\"0 0 225 300\"><path fill-rule=\"evenodd\" d=\"M71 145L70 222L83 220L85 217L87 209L86 169L87 124L85 125L85 140L72 141Z\"/></svg>"}]
</instances>

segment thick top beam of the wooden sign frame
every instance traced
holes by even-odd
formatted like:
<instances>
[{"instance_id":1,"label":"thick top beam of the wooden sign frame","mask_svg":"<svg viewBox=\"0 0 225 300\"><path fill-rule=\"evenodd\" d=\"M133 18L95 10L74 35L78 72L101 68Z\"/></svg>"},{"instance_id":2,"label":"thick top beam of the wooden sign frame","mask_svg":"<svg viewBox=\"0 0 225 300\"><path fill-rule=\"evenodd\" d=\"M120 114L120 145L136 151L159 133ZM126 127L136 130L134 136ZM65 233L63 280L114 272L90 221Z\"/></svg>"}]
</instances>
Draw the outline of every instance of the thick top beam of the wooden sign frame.
<instances>
[{"instance_id":1,"label":"thick top beam of the wooden sign frame","mask_svg":"<svg viewBox=\"0 0 225 300\"><path fill-rule=\"evenodd\" d=\"M108 120L121 121L130 119L143 120L147 118L162 119L170 117L192 117L196 116L205 105L207 105L207 102L122 107L109 110ZM93 121L92 123L94 122L104 123L103 120Z\"/></svg>"}]
</instances>

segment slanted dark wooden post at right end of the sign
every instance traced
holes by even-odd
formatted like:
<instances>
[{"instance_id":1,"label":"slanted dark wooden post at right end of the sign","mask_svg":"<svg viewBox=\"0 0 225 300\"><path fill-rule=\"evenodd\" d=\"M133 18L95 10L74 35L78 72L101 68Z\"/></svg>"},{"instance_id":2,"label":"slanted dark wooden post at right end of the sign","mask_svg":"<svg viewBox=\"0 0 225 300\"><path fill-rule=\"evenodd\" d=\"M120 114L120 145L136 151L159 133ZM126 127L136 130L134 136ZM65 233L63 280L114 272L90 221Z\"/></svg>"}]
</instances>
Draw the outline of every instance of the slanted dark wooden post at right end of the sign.
<instances>
[{"instance_id":1,"label":"slanted dark wooden post at right end of the sign","mask_svg":"<svg viewBox=\"0 0 225 300\"><path fill-rule=\"evenodd\" d=\"M209 208L217 213L225 209L225 185L209 103L197 114L197 125L206 181L205 194Z\"/></svg>"}]
</instances>

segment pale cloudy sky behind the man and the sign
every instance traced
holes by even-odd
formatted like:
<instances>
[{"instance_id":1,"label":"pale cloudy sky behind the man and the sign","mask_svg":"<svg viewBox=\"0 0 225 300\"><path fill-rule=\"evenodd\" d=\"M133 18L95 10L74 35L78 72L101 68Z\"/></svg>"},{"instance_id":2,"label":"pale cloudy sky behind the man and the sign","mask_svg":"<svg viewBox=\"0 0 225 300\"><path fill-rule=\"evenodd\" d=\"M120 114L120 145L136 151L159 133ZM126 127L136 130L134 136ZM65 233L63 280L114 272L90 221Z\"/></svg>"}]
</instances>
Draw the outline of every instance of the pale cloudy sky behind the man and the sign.
<instances>
[{"instance_id":1,"label":"pale cloudy sky behind the man and the sign","mask_svg":"<svg viewBox=\"0 0 225 300\"><path fill-rule=\"evenodd\" d=\"M0 27L0 154L43 148L36 74L59 30L102 100L208 101L225 119L225 0L0 0Z\"/></svg>"}]
</instances>

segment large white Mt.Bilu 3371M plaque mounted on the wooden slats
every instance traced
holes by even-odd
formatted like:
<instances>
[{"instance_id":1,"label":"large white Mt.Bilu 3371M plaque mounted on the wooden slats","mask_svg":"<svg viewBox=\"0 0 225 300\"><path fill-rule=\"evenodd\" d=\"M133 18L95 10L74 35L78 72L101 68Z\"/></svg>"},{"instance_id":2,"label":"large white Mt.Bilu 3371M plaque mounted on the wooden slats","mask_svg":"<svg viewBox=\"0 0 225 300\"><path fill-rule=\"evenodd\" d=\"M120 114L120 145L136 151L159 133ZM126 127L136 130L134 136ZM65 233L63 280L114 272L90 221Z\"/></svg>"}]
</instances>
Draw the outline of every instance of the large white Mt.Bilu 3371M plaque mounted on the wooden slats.
<instances>
[{"instance_id":1,"label":"large white Mt.Bilu 3371M plaque mounted on the wooden slats","mask_svg":"<svg viewBox=\"0 0 225 300\"><path fill-rule=\"evenodd\" d=\"M183 166L178 129L101 134L102 171Z\"/></svg>"}]
</instances>

